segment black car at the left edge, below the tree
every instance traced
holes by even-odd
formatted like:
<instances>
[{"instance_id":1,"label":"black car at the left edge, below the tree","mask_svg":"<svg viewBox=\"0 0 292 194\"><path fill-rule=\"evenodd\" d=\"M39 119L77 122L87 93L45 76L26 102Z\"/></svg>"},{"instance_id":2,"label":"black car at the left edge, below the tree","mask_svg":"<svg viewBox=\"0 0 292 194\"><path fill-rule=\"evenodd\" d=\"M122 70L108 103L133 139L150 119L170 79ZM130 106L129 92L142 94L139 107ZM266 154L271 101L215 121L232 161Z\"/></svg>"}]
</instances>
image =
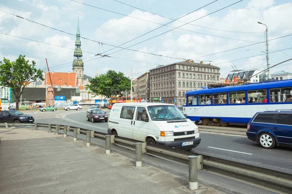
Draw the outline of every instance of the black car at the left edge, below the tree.
<instances>
[{"instance_id":1,"label":"black car at the left edge, below the tree","mask_svg":"<svg viewBox=\"0 0 292 194\"><path fill-rule=\"evenodd\" d=\"M33 123L35 118L18 111L0 111L0 123Z\"/></svg>"}]
</instances>

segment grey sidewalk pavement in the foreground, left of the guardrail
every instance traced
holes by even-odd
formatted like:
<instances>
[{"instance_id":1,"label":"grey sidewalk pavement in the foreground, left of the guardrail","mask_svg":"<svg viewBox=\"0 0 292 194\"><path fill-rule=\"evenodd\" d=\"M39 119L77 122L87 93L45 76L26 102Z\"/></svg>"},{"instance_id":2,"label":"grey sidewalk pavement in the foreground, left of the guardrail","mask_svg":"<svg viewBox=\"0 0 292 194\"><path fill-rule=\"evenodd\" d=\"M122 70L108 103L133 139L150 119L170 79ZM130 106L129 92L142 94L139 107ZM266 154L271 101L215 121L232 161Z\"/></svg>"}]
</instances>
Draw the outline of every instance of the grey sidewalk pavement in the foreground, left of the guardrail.
<instances>
[{"instance_id":1,"label":"grey sidewalk pavement in the foreground, left of the guardrail","mask_svg":"<svg viewBox=\"0 0 292 194\"><path fill-rule=\"evenodd\" d=\"M224 194L44 130L0 129L0 194Z\"/></svg>"}]
</instances>

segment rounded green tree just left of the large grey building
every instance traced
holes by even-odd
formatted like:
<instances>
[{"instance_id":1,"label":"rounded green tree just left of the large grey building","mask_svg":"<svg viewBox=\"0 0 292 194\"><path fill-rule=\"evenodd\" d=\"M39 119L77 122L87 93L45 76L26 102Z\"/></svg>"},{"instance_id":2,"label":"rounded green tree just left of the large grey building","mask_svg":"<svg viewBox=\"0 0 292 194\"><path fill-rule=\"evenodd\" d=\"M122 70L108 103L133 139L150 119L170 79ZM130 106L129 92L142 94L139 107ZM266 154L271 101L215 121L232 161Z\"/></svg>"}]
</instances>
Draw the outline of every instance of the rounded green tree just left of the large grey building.
<instances>
[{"instance_id":1,"label":"rounded green tree just left of the large grey building","mask_svg":"<svg viewBox=\"0 0 292 194\"><path fill-rule=\"evenodd\" d=\"M109 70L99 77L92 78L86 88L96 95L105 97L122 96L122 92L130 91L131 80L124 73Z\"/></svg>"}]
</instances>

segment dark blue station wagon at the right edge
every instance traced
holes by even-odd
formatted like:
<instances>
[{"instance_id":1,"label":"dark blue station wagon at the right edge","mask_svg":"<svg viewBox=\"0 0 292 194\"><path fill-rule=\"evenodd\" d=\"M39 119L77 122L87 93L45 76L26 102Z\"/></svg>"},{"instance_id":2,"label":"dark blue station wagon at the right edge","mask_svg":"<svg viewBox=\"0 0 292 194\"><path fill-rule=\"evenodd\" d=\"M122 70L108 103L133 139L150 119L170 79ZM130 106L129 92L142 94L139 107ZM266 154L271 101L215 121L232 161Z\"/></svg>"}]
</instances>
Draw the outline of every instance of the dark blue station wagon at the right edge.
<instances>
[{"instance_id":1,"label":"dark blue station wagon at the right edge","mask_svg":"<svg viewBox=\"0 0 292 194\"><path fill-rule=\"evenodd\" d=\"M248 123L246 135L263 148L292 147L292 110L256 113Z\"/></svg>"}]
</instances>

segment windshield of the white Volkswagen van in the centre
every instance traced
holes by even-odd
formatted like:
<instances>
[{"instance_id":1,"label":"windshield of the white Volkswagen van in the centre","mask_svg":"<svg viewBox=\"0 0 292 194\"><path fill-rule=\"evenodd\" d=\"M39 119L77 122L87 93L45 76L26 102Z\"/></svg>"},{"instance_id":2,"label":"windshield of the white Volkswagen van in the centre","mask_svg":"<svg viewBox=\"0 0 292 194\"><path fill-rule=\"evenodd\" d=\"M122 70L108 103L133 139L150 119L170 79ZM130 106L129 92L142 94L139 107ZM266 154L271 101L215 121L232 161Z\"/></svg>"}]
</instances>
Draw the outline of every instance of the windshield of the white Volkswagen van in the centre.
<instances>
[{"instance_id":1,"label":"windshield of the white Volkswagen van in the centre","mask_svg":"<svg viewBox=\"0 0 292 194\"><path fill-rule=\"evenodd\" d=\"M185 119L180 110L174 105L148 106L148 112L154 121Z\"/></svg>"}]
</instances>

